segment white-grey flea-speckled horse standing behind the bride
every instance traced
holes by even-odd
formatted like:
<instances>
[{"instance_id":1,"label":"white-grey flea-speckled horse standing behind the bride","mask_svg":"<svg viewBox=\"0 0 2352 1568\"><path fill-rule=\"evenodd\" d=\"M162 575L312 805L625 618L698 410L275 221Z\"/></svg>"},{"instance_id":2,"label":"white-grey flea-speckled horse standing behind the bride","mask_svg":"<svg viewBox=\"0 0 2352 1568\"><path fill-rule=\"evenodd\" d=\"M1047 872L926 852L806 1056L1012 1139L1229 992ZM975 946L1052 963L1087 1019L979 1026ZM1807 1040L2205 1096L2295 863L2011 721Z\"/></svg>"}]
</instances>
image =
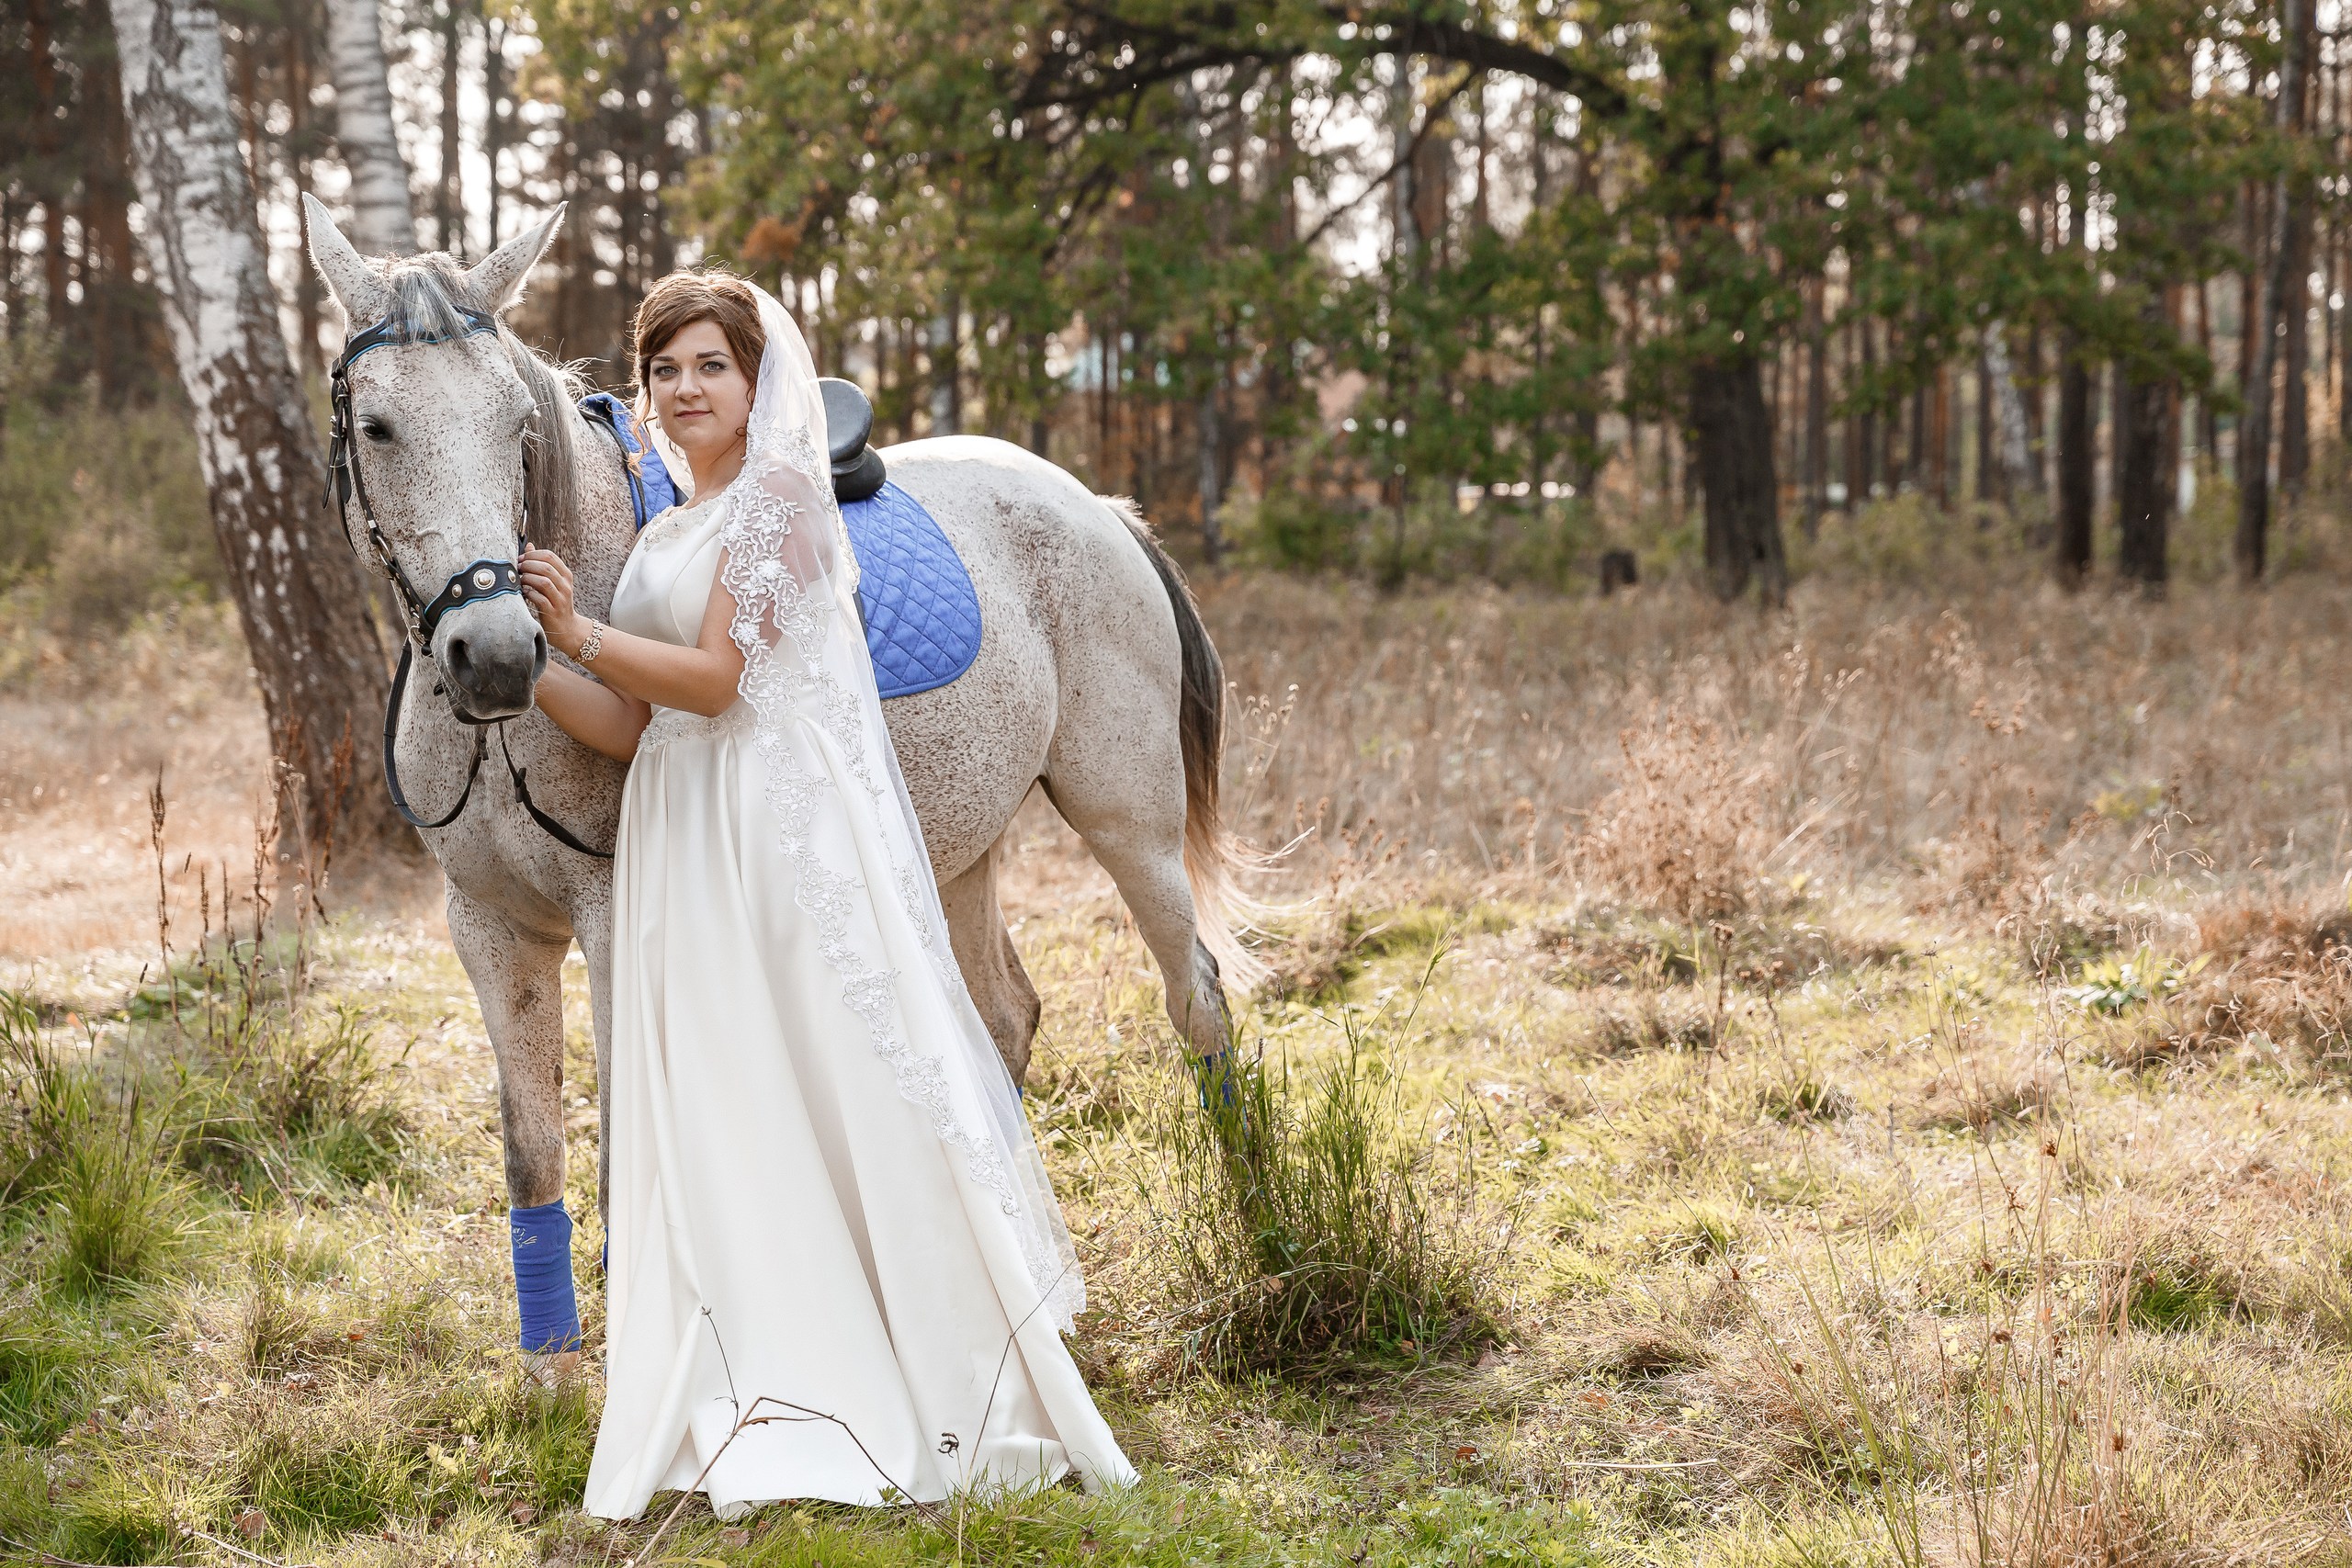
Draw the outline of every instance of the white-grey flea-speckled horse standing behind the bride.
<instances>
[{"instance_id":1,"label":"white-grey flea-speckled horse standing behind the bride","mask_svg":"<svg viewBox=\"0 0 2352 1568\"><path fill-rule=\"evenodd\" d=\"M308 197L306 212L310 256L346 331L393 322L390 343L346 371L350 458L365 477L358 510L374 520L362 534L358 510L348 517L353 548L369 562L381 550L388 569L426 592L456 590L468 576L489 590L480 567L513 562L527 503L532 543L572 564L581 611L602 618L635 538L619 447L579 414L572 378L496 320L522 294L562 212L470 268L447 256L367 261ZM887 461L891 482L946 529L981 602L974 665L884 712L957 964L1004 1065L1016 1081L1028 1070L1037 992L997 907L995 849L1033 785L1117 884L1190 1051L1223 1053L1230 1020L1218 957L1228 966L1240 957L1228 914L1237 858L1216 816L1223 670L1183 581L1141 520L1018 447L957 435L891 447ZM539 813L609 846L623 766L532 708L548 644L522 597L461 602L426 644L393 745L416 813L447 813L468 766L480 769L482 731L459 715L513 719L492 752L510 748ZM508 1199L515 1208L555 1204L564 1192L562 961L576 940L602 1079L612 863L541 827L508 788L503 759L423 839L447 875L449 936L499 1058Z\"/></svg>"}]
</instances>

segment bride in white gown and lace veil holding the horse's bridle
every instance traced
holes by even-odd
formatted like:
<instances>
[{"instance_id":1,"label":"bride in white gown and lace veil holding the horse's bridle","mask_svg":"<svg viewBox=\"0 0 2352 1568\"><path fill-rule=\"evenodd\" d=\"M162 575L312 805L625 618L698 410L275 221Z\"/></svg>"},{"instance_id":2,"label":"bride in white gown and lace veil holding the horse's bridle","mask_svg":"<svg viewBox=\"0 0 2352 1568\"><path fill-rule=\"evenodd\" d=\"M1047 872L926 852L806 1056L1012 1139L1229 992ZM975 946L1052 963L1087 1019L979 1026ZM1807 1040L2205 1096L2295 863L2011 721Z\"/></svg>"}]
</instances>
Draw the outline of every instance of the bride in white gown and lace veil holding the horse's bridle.
<instances>
[{"instance_id":1,"label":"bride in white gown and lace veil holding the horse's bridle","mask_svg":"<svg viewBox=\"0 0 2352 1568\"><path fill-rule=\"evenodd\" d=\"M809 350L767 292L677 273L635 357L694 501L647 524L609 625L560 557L522 557L586 670L550 668L541 708L633 759L586 1507L1129 1481L1061 1340L1077 1258L882 724Z\"/></svg>"}]
</instances>

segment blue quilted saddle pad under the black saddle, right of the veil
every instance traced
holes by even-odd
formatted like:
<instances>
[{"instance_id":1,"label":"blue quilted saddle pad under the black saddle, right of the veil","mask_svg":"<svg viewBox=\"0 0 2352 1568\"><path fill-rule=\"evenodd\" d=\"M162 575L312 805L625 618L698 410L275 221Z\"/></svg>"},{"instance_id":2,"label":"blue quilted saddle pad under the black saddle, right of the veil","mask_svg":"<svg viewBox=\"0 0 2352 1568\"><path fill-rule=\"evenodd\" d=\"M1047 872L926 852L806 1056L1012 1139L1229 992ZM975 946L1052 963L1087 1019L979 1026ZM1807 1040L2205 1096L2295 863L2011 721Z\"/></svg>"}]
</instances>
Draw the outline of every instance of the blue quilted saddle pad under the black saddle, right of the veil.
<instances>
[{"instance_id":1,"label":"blue quilted saddle pad under the black saddle, right of the veil","mask_svg":"<svg viewBox=\"0 0 2352 1568\"><path fill-rule=\"evenodd\" d=\"M946 686L981 656L981 595L931 512L884 484L842 505L858 557L858 609L882 696Z\"/></svg>"}]
</instances>

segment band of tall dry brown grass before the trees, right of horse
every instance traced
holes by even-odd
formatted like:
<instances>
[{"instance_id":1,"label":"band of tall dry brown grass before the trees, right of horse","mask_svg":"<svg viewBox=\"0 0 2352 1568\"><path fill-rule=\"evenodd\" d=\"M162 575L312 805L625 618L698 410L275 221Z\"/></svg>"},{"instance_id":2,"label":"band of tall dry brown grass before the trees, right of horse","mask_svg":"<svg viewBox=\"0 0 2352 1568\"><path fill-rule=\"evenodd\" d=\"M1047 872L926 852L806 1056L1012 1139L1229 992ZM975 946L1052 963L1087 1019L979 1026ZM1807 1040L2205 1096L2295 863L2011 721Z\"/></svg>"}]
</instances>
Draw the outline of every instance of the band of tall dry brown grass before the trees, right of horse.
<instances>
[{"instance_id":1,"label":"band of tall dry brown grass before the trees, right of horse","mask_svg":"<svg viewBox=\"0 0 2352 1568\"><path fill-rule=\"evenodd\" d=\"M1623 811L1717 860L1736 846L1750 877L1933 872L1938 900L1969 905L2049 879L2340 877L2333 672L2352 628L2333 581L2166 604L1994 576L1933 597L1806 581L1780 618L1679 588L1378 597L1242 576L1202 597L1235 691L1258 698L1235 816L1261 842L1319 827L1301 858L1317 879L1545 886ZM1696 773L1661 773L1658 748ZM1625 853L1599 870L1637 875Z\"/></svg>"}]
</instances>

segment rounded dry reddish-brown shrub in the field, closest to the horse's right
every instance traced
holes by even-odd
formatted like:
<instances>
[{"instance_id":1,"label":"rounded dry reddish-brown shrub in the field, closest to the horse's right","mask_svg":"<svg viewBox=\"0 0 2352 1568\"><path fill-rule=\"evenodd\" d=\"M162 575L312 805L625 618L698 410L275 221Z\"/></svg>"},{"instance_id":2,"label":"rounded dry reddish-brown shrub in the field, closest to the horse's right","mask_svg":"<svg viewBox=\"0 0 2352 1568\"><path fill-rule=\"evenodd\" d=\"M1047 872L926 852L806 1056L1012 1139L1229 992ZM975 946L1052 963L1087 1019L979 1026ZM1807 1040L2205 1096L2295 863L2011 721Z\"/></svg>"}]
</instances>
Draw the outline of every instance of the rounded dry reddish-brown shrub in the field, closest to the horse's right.
<instances>
[{"instance_id":1,"label":"rounded dry reddish-brown shrub in the field, closest to the horse's right","mask_svg":"<svg viewBox=\"0 0 2352 1568\"><path fill-rule=\"evenodd\" d=\"M1618 750L1616 788L1571 835L1569 863L1684 922L1752 907L1771 769L1743 757L1722 724L1679 708L1618 731Z\"/></svg>"}]
</instances>

